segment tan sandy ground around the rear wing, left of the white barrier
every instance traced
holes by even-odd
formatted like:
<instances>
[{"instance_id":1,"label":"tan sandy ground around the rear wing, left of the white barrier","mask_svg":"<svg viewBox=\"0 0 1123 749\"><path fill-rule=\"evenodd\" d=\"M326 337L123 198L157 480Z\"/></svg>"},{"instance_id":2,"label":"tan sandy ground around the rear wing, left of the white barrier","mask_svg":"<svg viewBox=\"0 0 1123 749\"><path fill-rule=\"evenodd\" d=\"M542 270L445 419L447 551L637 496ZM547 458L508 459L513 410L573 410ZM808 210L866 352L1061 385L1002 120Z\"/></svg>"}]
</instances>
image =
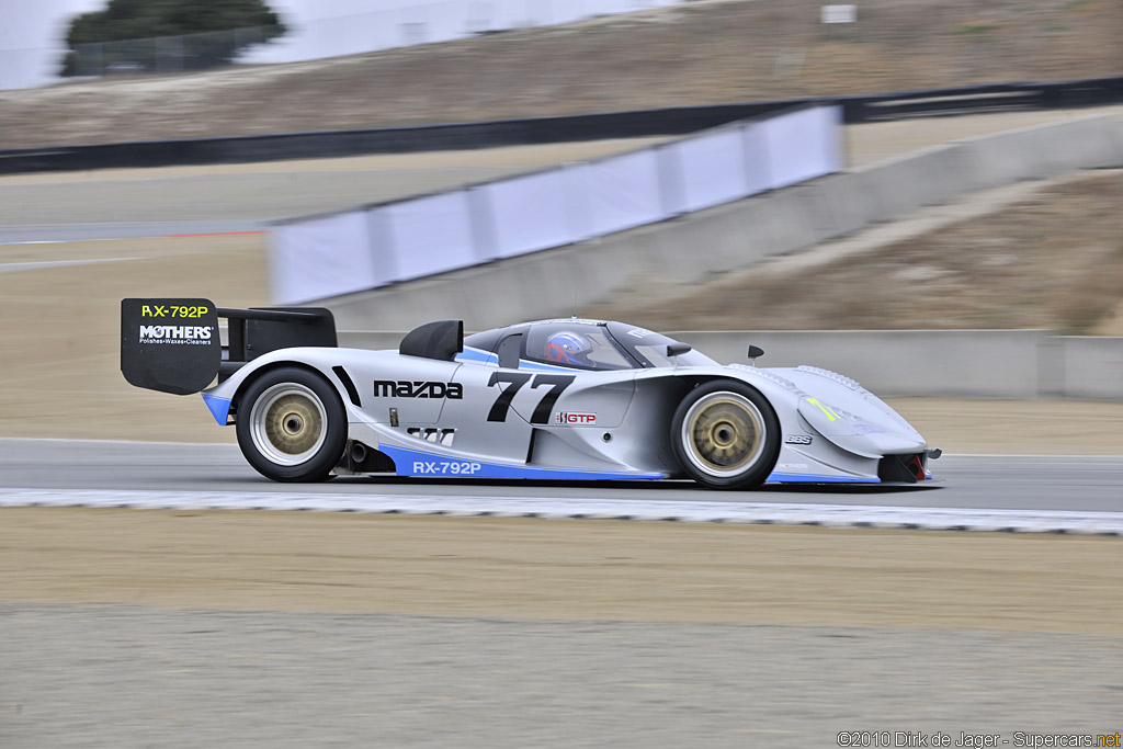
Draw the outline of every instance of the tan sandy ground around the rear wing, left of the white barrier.
<instances>
[{"instance_id":1,"label":"tan sandy ground around the rear wing, left of the white barrier","mask_svg":"<svg viewBox=\"0 0 1123 749\"><path fill-rule=\"evenodd\" d=\"M0 433L186 439L179 426L184 399L133 389L121 377L120 300L259 304L262 241L249 235L2 248L10 263L135 259L0 273Z\"/></svg>"}]
</instances>

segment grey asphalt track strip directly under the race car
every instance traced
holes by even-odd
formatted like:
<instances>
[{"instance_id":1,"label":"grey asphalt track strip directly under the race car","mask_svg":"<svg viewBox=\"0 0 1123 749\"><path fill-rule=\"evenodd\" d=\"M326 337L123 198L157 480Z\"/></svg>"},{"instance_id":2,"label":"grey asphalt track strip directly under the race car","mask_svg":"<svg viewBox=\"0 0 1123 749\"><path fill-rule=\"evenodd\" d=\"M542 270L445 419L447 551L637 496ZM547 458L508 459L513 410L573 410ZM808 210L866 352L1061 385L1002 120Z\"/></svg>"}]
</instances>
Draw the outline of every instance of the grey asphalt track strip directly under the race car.
<instances>
[{"instance_id":1,"label":"grey asphalt track strip directly under the race car","mask_svg":"<svg viewBox=\"0 0 1123 749\"><path fill-rule=\"evenodd\" d=\"M284 492L383 496L551 497L677 502L760 502L892 508L1123 511L1123 458L946 455L923 486L767 485L713 492L691 482L537 482L346 476L279 484L250 468L232 445L0 439L3 488Z\"/></svg>"}]
</instances>

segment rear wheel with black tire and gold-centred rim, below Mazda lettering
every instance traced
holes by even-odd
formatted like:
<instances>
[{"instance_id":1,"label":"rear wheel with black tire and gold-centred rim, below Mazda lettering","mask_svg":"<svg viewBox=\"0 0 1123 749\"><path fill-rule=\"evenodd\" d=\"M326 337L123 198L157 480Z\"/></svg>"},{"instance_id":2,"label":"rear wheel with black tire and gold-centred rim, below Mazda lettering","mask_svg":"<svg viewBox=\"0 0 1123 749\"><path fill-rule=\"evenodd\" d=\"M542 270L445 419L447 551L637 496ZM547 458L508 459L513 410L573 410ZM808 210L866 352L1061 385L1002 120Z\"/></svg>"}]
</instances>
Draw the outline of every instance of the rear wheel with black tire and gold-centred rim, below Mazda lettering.
<instances>
[{"instance_id":1,"label":"rear wheel with black tire and gold-centred rim, below Mazda lettering","mask_svg":"<svg viewBox=\"0 0 1123 749\"><path fill-rule=\"evenodd\" d=\"M266 478L326 481L347 445L347 413L327 380L281 367L238 399L237 432L241 454Z\"/></svg>"}]
</instances>

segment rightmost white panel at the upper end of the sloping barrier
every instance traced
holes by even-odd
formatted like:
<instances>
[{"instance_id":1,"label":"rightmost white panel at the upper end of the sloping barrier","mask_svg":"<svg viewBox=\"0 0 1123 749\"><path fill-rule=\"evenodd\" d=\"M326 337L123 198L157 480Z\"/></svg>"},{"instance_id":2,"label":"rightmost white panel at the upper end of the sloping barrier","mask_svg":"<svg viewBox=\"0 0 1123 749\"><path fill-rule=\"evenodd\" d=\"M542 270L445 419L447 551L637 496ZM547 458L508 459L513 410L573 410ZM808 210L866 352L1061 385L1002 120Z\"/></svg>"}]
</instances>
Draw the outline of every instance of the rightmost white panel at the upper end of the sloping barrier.
<instances>
[{"instance_id":1,"label":"rightmost white panel at the upper end of the sloping barrier","mask_svg":"<svg viewBox=\"0 0 1123 749\"><path fill-rule=\"evenodd\" d=\"M841 107L811 107L757 124L764 129L773 189L842 168Z\"/></svg>"}]
</instances>

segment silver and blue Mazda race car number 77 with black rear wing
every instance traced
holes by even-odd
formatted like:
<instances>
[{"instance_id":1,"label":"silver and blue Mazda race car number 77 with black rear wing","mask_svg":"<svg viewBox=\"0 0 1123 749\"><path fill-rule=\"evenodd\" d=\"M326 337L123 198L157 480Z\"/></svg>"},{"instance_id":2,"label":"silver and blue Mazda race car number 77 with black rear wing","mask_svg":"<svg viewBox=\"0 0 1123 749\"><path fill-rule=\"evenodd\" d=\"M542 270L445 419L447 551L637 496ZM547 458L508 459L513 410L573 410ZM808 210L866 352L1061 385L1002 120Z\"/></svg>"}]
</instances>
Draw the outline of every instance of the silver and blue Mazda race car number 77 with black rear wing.
<instances>
[{"instance_id":1,"label":"silver and blue Mazda race car number 77 with black rear wing","mask_svg":"<svg viewBox=\"0 0 1123 749\"><path fill-rule=\"evenodd\" d=\"M219 318L228 320L226 344ZM622 322L422 325L396 350L339 348L322 308L121 301L121 372L201 393L262 475L691 478L713 488L931 478L924 438L814 366L721 365Z\"/></svg>"}]
</instances>

